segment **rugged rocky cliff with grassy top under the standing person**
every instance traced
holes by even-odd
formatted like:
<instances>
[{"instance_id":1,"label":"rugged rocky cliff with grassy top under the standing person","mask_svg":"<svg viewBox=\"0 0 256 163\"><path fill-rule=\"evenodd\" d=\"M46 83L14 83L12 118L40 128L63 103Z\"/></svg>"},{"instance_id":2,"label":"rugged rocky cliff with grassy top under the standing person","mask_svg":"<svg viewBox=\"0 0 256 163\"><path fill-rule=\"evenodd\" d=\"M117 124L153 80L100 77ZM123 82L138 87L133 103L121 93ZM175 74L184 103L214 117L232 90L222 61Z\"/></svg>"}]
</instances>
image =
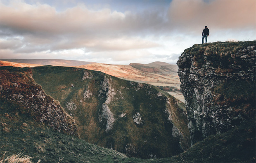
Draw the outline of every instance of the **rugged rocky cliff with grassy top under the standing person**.
<instances>
[{"instance_id":1,"label":"rugged rocky cliff with grassy top under the standing person","mask_svg":"<svg viewBox=\"0 0 256 163\"><path fill-rule=\"evenodd\" d=\"M177 62L192 144L255 118L256 41L195 44Z\"/></svg>"}]
</instances>

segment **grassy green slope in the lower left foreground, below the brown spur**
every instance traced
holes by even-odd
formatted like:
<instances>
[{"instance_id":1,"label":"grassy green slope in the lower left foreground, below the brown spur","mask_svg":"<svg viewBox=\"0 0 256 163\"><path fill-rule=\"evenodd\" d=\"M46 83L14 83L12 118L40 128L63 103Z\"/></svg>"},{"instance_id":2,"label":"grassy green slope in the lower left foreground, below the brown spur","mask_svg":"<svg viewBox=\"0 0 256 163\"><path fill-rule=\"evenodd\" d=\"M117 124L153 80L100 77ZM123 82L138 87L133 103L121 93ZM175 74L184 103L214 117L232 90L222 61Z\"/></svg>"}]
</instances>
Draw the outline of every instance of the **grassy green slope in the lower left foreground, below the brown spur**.
<instances>
[{"instance_id":1,"label":"grassy green slope in the lower left foreground, below the brown spur","mask_svg":"<svg viewBox=\"0 0 256 163\"><path fill-rule=\"evenodd\" d=\"M123 162L127 157L111 149L58 133L44 123L22 114L18 105L1 101L0 155L23 152L33 162Z\"/></svg>"}]
</instances>

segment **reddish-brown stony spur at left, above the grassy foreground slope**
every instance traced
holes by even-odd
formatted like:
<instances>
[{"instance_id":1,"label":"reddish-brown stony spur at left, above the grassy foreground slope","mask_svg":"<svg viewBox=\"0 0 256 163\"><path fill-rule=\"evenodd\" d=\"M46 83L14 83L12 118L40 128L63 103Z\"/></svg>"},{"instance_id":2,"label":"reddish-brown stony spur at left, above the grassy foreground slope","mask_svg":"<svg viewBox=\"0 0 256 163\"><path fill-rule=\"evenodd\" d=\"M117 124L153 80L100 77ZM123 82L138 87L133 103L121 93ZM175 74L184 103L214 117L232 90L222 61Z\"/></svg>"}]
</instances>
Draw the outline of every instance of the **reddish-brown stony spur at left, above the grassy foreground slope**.
<instances>
[{"instance_id":1,"label":"reddish-brown stony spur at left, above the grassy foreground slope","mask_svg":"<svg viewBox=\"0 0 256 163\"><path fill-rule=\"evenodd\" d=\"M37 121L49 124L58 132L78 136L77 126L59 102L46 95L41 86L31 78L31 70L18 70L14 72L2 70L0 98L19 105L20 112L30 114ZM71 105L71 104L70 104Z\"/></svg>"}]
</instances>

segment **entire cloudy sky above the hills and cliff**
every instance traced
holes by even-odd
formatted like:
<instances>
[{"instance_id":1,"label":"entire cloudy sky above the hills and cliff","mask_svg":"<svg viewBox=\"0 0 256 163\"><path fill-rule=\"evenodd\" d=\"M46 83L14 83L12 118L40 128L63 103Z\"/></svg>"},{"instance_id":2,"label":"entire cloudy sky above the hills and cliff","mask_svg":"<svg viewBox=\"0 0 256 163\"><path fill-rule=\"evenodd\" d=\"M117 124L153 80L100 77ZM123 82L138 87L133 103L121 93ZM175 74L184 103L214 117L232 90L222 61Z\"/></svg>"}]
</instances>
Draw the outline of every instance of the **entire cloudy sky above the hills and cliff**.
<instances>
[{"instance_id":1,"label":"entire cloudy sky above the hills and cliff","mask_svg":"<svg viewBox=\"0 0 256 163\"><path fill-rule=\"evenodd\" d=\"M204 26L256 40L256 0L0 0L0 58L176 63Z\"/></svg>"}]
</instances>

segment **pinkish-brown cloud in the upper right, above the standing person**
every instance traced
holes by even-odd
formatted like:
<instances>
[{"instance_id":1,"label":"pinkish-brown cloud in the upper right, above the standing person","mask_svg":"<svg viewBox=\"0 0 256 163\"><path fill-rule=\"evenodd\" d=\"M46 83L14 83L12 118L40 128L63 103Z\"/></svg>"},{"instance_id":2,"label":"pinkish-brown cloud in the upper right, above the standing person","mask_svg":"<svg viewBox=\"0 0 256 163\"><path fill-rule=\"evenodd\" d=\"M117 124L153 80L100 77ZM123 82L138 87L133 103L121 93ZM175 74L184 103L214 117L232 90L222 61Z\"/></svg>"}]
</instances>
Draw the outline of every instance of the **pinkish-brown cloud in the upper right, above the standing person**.
<instances>
[{"instance_id":1,"label":"pinkish-brown cloud in the upper right, above the standing person","mask_svg":"<svg viewBox=\"0 0 256 163\"><path fill-rule=\"evenodd\" d=\"M256 28L256 1L254 0L173 0L169 19L183 31L198 28L218 30Z\"/></svg>"}]
</instances>

